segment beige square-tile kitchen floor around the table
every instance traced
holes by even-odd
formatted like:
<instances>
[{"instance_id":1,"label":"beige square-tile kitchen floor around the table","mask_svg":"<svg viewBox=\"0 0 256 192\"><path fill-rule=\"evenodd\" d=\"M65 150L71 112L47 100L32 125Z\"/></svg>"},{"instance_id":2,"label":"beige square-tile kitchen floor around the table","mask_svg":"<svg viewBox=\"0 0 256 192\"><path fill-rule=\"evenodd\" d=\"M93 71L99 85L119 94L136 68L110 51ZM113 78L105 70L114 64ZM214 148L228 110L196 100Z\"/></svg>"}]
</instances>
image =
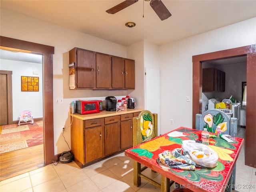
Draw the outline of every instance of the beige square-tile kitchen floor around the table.
<instances>
[{"instance_id":1,"label":"beige square-tile kitchen floor around the table","mask_svg":"<svg viewBox=\"0 0 256 192\"><path fill-rule=\"evenodd\" d=\"M244 138L241 128L238 137ZM160 192L142 179L140 187L133 185L133 162L124 153L91 166L79 169L75 162L50 164L43 168L0 182L1 192ZM160 175L146 170L146 174L160 182ZM236 190L256 192L256 168L244 165L244 147L236 163ZM254 188L253 188L254 186ZM171 191L174 187L171 187Z\"/></svg>"}]
</instances>

